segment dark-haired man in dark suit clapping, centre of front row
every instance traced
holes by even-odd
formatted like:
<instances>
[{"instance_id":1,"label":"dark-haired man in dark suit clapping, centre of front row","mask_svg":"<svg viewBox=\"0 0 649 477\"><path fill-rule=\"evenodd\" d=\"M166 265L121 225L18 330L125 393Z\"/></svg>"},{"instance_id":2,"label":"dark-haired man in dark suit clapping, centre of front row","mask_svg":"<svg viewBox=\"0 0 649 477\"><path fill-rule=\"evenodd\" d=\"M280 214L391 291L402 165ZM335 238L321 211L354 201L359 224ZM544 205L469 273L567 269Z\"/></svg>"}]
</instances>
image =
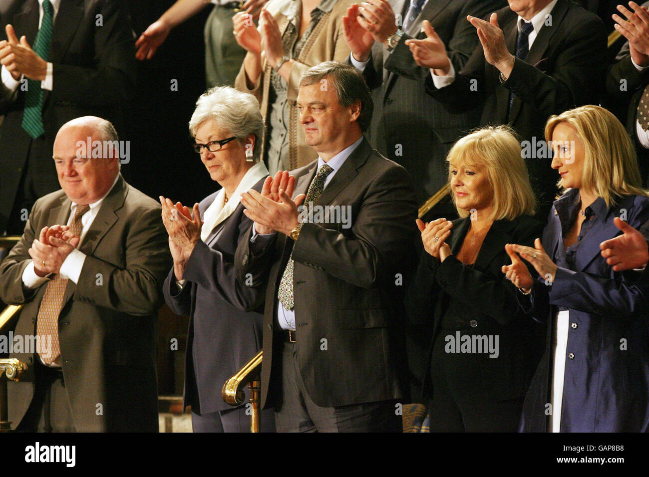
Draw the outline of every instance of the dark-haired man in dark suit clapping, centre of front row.
<instances>
[{"instance_id":1,"label":"dark-haired man in dark suit clapping, centre of front row","mask_svg":"<svg viewBox=\"0 0 649 477\"><path fill-rule=\"evenodd\" d=\"M293 171L298 195L289 186L277 202L241 197L254 225L237 277L266 289L262 406L275 407L279 432L399 432L415 193L403 167L363 138L372 100L354 67L310 68L297 103L319 154Z\"/></svg>"}]
</instances>

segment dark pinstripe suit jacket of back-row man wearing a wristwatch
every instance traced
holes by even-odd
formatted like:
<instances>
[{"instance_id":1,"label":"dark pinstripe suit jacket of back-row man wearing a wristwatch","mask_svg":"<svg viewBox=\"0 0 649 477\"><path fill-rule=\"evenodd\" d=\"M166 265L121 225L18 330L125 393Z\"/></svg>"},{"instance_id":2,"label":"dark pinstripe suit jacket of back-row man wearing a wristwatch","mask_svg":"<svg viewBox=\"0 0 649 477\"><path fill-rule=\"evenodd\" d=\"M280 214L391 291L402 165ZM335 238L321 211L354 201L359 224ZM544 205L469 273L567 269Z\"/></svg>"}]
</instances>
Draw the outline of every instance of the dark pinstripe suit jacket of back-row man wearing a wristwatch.
<instances>
[{"instance_id":1,"label":"dark pinstripe suit jacket of back-row man wearing a wristwatch","mask_svg":"<svg viewBox=\"0 0 649 477\"><path fill-rule=\"evenodd\" d=\"M410 0L391 5L395 14L405 18ZM374 100L369 140L380 154L410 173L420 205L447 183L447 153L458 138L478 125L481 110L479 103L463 111L448 110L426 94L424 82L430 70L415 63L406 40L426 38L421 23L430 21L460 71L478 45L467 15L482 18L505 5L504 0L428 0L391 53L374 43L371 62L363 70Z\"/></svg>"}]
</instances>

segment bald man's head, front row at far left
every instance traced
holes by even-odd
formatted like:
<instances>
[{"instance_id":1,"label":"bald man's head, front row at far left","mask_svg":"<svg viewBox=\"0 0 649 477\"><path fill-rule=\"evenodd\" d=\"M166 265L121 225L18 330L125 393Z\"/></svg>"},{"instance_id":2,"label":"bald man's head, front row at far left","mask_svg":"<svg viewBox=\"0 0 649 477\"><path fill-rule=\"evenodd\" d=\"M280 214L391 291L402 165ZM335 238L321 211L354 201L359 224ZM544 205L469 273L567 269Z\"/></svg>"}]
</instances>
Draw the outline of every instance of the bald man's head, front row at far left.
<instances>
[{"instance_id":1,"label":"bald man's head, front row at far left","mask_svg":"<svg viewBox=\"0 0 649 477\"><path fill-rule=\"evenodd\" d=\"M67 121L56 134L53 158L56 175L67 197L76 204L92 204L106 195L119 173L119 154L95 157L93 144L117 141L115 128L96 116ZM112 146L111 146L112 147ZM105 147L101 151L106 151Z\"/></svg>"}]
</instances>

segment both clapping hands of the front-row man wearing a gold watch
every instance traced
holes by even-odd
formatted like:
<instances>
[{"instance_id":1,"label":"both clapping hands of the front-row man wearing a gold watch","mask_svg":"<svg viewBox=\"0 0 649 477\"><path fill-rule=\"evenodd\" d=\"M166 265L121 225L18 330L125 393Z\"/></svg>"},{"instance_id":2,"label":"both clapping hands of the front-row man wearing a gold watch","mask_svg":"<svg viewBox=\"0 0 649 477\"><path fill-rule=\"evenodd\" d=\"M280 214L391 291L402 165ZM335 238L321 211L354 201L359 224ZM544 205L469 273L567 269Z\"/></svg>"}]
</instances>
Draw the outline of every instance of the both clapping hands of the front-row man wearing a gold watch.
<instances>
[{"instance_id":1,"label":"both clapping hands of the front-row man wearing a gold watch","mask_svg":"<svg viewBox=\"0 0 649 477\"><path fill-rule=\"evenodd\" d=\"M287 171L278 171L273 180L266 178L262 193L249 190L241 193L241 203L245 206L243 214L254 221L254 230L258 234L282 232L287 236L299 225L298 207L306 195L300 194L291 200L295 177ZM276 200L275 200L276 199Z\"/></svg>"}]
</instances>

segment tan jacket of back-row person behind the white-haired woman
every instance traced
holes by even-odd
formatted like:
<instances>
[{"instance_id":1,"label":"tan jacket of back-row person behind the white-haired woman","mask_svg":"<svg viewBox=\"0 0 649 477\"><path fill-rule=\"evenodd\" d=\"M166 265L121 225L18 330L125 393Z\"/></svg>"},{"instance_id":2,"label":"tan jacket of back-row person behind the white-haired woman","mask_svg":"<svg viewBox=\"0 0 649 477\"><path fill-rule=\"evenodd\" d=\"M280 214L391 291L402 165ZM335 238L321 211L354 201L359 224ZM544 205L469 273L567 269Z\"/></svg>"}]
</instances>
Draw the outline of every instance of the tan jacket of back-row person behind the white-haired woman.
<instances>
[{"instance_id":1,"label":"tan jacket of back-row person behind the white-haired woman","mask_svg":"<svg viewBox=\"0 0 649 477\"><path fill-rule=\"evenodd\" d=\"M300 0L271 0L265 8L273 14L280 27L280 33L284 34L289 24L289 19L284 14L286 6L293 1ZM312 66L322 63L323 61L344 62L349 58L350 49L345 43L343 35L343 16L347 8L352 5L350 0L338 0L334 8L324 13L317 27L313 30L306 45L302 48L297 61L291 67L291 74L288 80L287 97L291 104L290 121L288 125L289 132L289 157L283 158L284 169L292 170L309 164L317 159L318 155L311 147L306 145L304 140L304 130L300 127L299 110L295 105L297 93L300 89L300 77L302 73ZM252 93L259 101L262 110L263 120L268 125L268 96L271 87L271 66L266 62L266 57L262 52L262 74L257 79L252 88L248 88L245 79L245 70L243 65L234 82L234 87L240 91ZM262 158L265 157L266 141L262 145Z\"/></svg>"}]
</instances>

